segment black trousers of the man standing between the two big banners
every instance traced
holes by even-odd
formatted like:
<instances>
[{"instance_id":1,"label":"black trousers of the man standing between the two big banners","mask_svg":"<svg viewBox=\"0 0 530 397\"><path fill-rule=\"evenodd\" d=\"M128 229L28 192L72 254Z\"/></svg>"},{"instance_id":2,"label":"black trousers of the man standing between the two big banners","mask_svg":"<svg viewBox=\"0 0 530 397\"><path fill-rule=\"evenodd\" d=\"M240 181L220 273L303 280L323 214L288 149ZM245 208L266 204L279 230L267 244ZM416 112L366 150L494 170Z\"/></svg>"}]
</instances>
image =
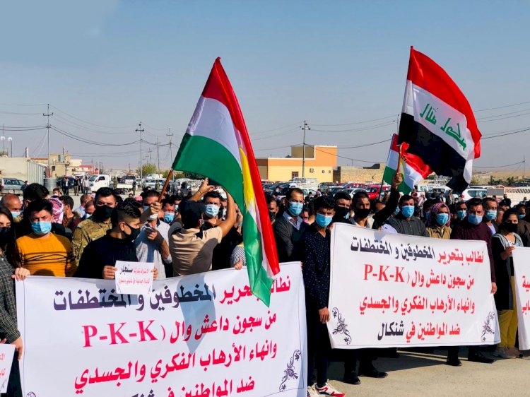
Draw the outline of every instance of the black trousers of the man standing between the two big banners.
<instances>
[{"instance_id":1,"label":"black trousers of the man standing between the two big banners","mask_svg":"<svg viewBox=\"0 0 530 397\"><path fill-rule=\"evenodd\" d=\"M314 369L317 369L317 386L324 386L328 379L331 344L326 324L320 322L317 309L306 312L307 321L307 386L314 384Z\"/></svg>"}]
</instances>

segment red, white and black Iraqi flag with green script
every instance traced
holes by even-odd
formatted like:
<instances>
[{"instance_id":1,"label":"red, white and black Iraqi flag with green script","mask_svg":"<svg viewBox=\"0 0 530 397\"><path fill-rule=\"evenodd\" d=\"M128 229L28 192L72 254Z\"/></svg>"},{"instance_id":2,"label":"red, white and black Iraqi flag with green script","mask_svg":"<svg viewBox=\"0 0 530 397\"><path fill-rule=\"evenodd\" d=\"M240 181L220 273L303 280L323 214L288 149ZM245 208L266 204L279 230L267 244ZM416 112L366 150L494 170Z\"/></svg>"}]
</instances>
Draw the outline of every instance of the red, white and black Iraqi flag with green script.
<instances>
[{"instance_id":1,"label":"red, white and black Iraqi flag with green script","mask_svg":"<svg viewBox=\"0 0 530 397\"><path fill-rule=\"evenodd\" d=\"M399 143L418 155L447 186L463 191L473 160L481 155L481 132L460 88L435 61L411 47Z\"/></svg>"}]
</instances>

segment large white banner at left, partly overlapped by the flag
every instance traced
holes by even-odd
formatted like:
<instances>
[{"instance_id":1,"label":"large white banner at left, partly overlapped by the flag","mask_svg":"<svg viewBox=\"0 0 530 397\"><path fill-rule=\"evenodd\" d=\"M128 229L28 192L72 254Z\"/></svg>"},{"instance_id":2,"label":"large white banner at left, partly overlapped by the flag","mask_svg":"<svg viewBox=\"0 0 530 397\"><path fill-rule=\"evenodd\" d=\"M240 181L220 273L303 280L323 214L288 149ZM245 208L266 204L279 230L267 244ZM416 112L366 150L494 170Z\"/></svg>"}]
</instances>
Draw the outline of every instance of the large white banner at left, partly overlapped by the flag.
<instances>
[{"instance_id":1,"label":"large white banner at left, partly overlapped by the flag","mask_svg":"<svg viewBox=\"0 0 530 397\"><path fill-rule=\"evenodd\" d=\"M16 283L23 396L305 396L305 294L284 263L271 305L247 271L155 281L150 296L114 280Z\"/></svg>"}]
</instances>

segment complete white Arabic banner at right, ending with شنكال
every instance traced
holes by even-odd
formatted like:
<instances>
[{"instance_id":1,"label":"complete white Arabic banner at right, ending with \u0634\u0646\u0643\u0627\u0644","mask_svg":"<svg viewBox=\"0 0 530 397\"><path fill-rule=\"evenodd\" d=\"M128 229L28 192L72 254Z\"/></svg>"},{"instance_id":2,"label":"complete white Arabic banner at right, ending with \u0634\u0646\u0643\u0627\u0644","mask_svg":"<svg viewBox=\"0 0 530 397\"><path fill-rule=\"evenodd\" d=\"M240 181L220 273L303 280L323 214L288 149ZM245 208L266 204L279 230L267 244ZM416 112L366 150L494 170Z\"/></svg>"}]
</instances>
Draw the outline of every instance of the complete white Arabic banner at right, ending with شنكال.
<instances>
[{"instance_id":1,"label":"complete white Arabic banner at right, ending with \u0634\u0646\u0643\u0627\u0644","mask_svg":"<svg viewBox=\"0 0 530 397\"><path fill-rule=\"evenodd\" d=\"M485 242L338 223L331 235L333 348L498 343Z\"/></svg>"}]
</instances>

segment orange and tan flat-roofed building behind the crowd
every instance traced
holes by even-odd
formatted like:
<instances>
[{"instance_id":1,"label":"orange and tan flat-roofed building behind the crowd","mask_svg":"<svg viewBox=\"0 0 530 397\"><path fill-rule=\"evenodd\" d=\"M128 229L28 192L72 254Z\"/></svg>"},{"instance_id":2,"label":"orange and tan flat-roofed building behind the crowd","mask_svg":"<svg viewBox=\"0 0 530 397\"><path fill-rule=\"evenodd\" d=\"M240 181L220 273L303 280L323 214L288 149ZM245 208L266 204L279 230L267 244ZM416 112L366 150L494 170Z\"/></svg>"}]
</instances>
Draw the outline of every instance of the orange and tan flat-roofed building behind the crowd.
<instances>
[{"instance_id":1,"label":"orange and tan flat-roofed building behind the crowd","mask_svg":"<svg viewBox=\"0 0 530 397\"><path fill-rule=\"evenodd\" d=\"M302 177L303 146L291 146L286 158L257 158L261 179L280 182ZM336 146L305 146L306 178L317 178L318 182L333 182L333 170L337 166Z\"/></svg>"}]
</instances>

